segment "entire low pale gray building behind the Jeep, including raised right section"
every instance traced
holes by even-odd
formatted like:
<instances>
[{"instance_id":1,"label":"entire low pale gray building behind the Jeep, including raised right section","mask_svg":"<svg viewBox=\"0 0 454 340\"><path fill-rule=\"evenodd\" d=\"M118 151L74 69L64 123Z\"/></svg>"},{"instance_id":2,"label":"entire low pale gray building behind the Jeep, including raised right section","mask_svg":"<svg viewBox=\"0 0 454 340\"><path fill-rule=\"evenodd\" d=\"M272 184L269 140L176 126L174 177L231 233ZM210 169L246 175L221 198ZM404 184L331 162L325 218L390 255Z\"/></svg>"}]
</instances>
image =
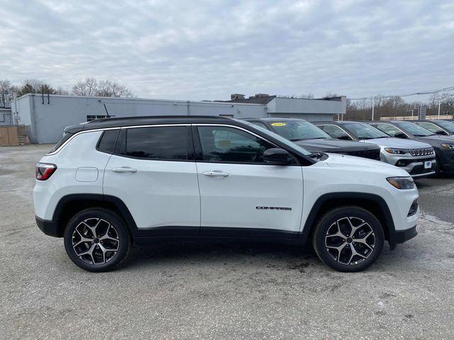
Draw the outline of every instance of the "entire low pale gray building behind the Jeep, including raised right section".
<instances>
[{"instance_id":1,"label":"entire low pale gray building behind the Jeep, including raised right section","mask_svg":"<svg viewBox=\"0 0 454 340\"><path fill-rule=\"evenodd\" d=\"M105 106L105 108L104 108ZM26 94L11 101L13 124L30 125L33 143L55 143L68 125L105 118L140 115L219 115L230 118L295 117L309 121L332 120L346 110L344 96L338 98L280 98L258 94L231 101L170 101L145 98L110 98Z\"/></svg>"}]
</instances>

